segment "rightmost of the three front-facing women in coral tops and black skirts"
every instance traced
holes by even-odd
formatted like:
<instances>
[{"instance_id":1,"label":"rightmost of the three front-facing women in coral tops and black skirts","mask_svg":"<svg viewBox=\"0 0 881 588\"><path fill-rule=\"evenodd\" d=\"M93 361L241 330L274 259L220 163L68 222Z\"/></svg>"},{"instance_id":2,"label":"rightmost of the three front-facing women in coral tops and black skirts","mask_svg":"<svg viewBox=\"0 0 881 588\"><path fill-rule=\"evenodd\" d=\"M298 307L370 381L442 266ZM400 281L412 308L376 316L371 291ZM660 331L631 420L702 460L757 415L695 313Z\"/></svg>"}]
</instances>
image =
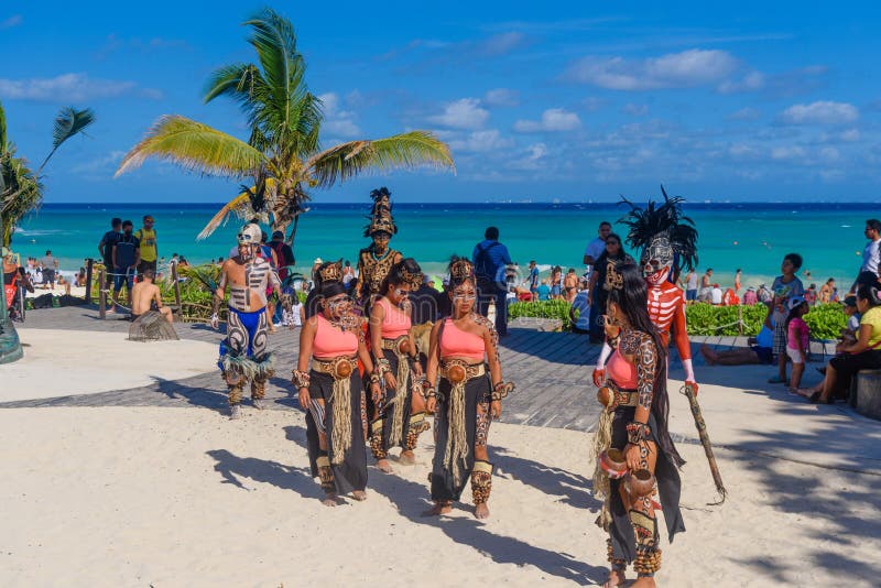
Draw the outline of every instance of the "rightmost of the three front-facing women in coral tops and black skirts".
<instances>
[{"instance_id":1,"label":"rightmost of the three front-facing women in coral tops and black skirts","mask_svg":"<svg viewBox=\"0 0 881 588\"><path fill-rule=\"evenodd\" d=\"M492 464L487 453L489 425L501 415L501 401L513 384L502 381L492 323L474 312L474 265L466 259L454 259L449 274L453 316L432 328L426 370L427 409L435 413L429 478L434 508L429 514L449 512L470 477L475 516L486 519L492 488ZM487 378L487 366L491 380ZM440 381L435 389L433 383L438 375Z\"/></svg>"}]
</instances>

